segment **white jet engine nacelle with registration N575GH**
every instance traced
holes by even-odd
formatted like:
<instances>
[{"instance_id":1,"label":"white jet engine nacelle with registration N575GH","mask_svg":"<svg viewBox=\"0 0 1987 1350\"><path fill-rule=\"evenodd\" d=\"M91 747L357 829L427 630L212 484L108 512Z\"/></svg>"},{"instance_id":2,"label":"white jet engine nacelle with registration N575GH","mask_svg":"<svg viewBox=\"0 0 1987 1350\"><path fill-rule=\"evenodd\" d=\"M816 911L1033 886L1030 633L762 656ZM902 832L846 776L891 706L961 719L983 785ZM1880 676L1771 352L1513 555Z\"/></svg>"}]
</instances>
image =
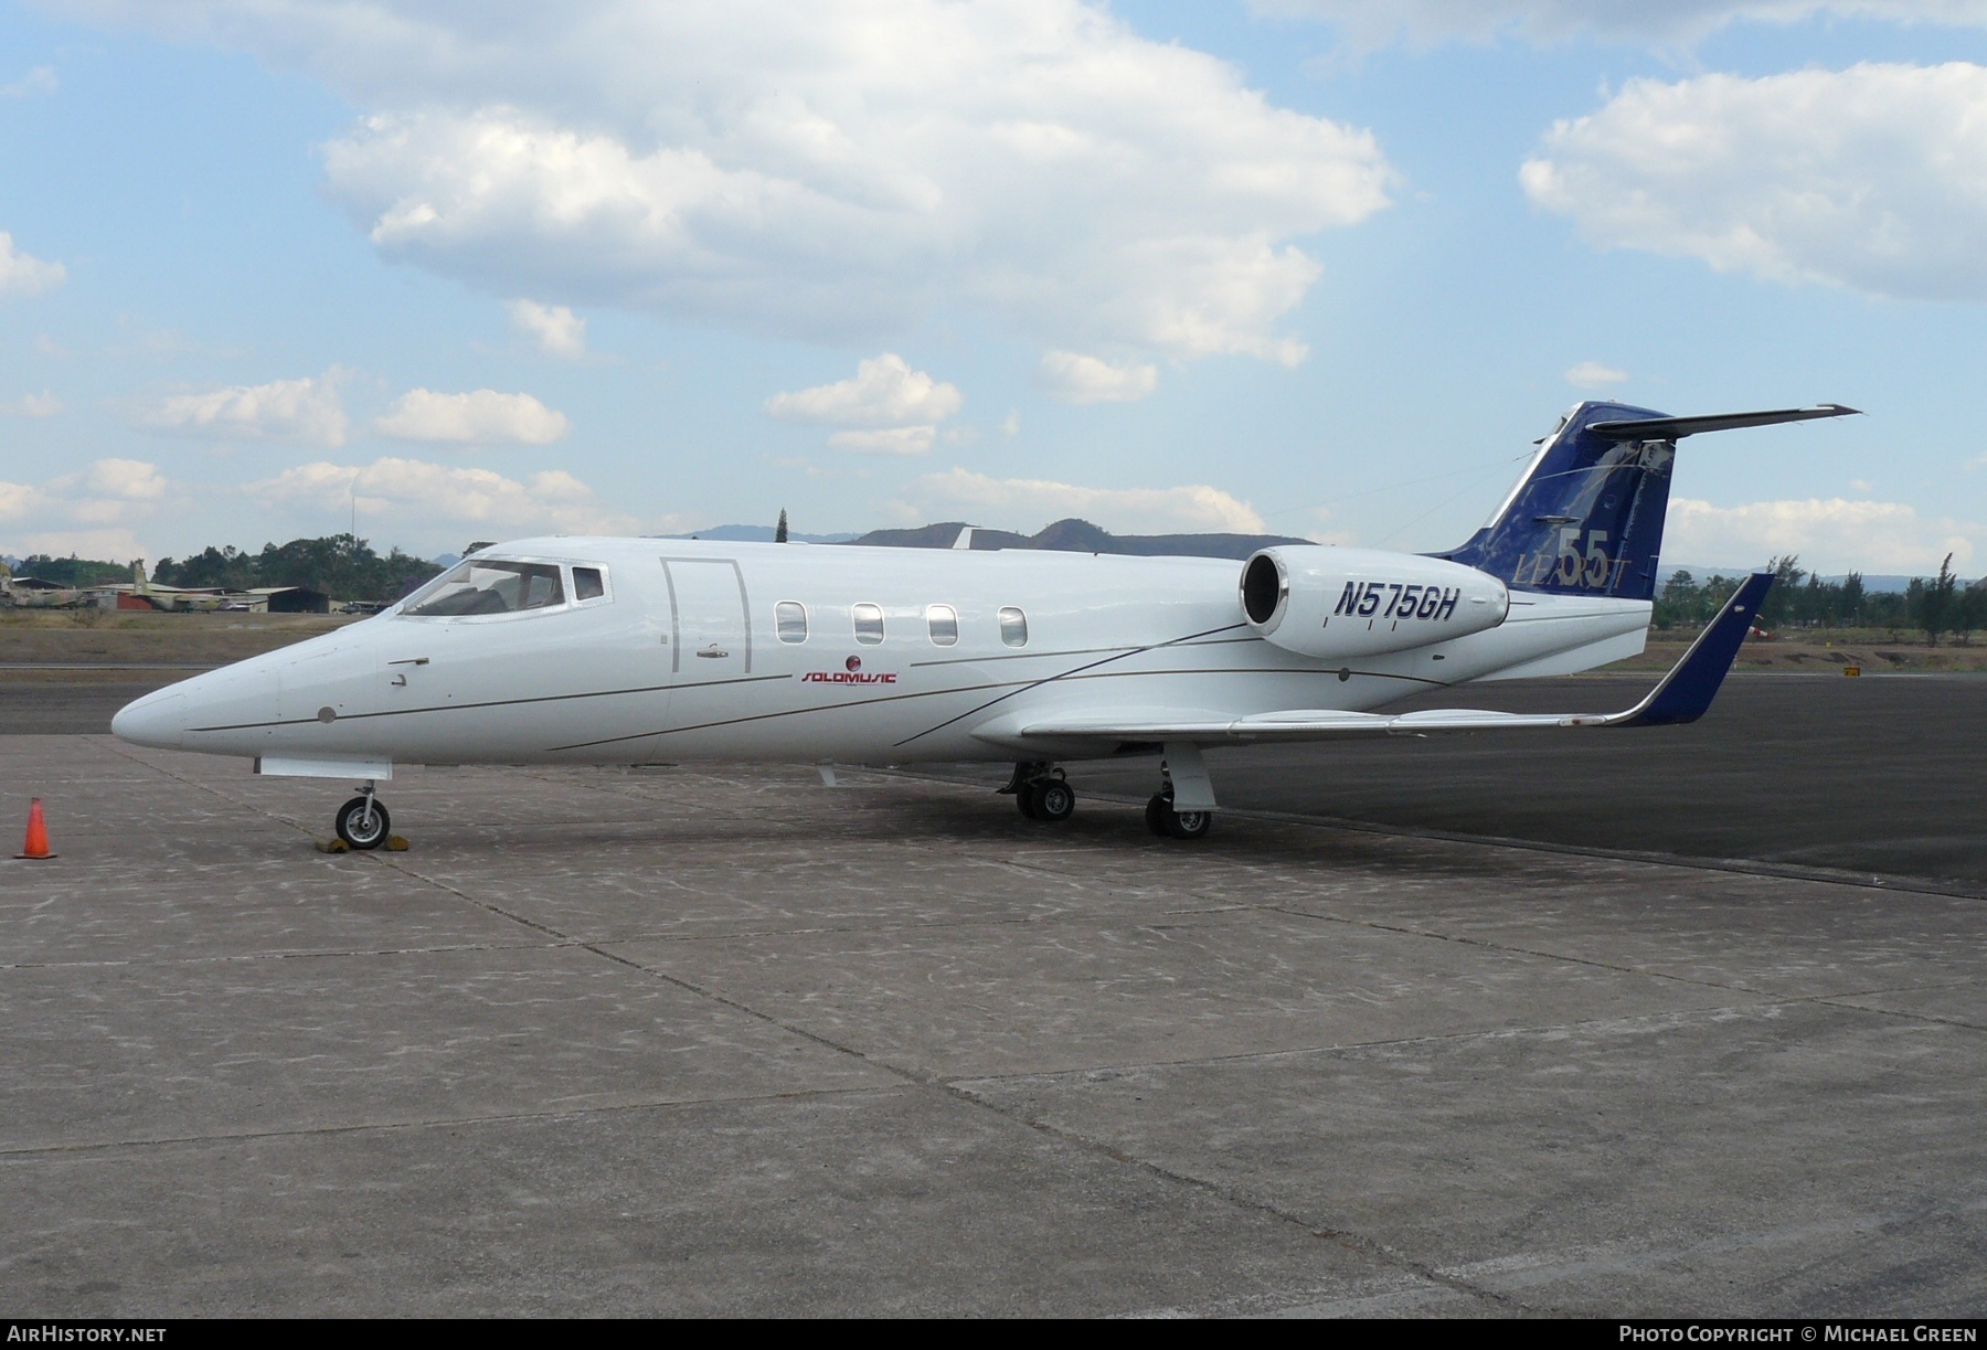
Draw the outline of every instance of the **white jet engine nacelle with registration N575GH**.
<instances>
[{"instance_id":1,"label":"white jet engine nacelle with registration N575GH","mask_svg":"<svg viewBox=\"0 0 1987 1350\"><path fill-rule=\"evenodd\" d=\"M1242 565L1242 612L1286 652L1339 660L1496 628L1510 591L1474 567L1413 553L1278 545Z\"/></svg>"}]
</instances>

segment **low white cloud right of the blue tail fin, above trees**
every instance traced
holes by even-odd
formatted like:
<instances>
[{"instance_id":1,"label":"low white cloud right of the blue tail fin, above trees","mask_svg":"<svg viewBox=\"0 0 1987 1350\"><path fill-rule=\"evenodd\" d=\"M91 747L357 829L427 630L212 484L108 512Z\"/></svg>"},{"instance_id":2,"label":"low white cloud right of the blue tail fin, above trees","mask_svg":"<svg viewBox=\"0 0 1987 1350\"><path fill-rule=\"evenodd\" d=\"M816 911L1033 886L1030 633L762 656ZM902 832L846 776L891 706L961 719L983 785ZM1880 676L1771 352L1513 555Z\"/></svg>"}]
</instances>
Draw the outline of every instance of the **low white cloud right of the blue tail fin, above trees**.
<instances>
[{"instance_id":1,"label":"low white cloud right of the blue tail fin, above trees","mask_svg":"<svg viewBox=\"0 0 1987 1350\"><path fill-rule=\"evenodd\" d=\"M1900 501L1749 501L1715 507L1673 497L1663 527L1663 555L1715 565L1760 565L1798 553L1802 567L1822 573L1935 573L1953 555L1953 569L1973 559L1979 525L1927 519Z\"/></svg>"}]
</instances>

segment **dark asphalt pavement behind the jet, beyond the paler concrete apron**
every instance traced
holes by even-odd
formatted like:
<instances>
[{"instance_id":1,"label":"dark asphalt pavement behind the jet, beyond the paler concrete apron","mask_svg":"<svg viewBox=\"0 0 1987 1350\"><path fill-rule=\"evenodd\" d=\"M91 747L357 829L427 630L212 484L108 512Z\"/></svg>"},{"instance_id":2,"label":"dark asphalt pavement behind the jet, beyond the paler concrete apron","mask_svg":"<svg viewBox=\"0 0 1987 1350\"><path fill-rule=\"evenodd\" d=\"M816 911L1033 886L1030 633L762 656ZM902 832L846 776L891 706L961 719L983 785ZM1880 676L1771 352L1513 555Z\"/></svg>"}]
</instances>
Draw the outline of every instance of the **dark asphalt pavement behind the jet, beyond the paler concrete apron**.
<instances>
[{"instance_id":1,"label":"dark asphalt pavement behind the jet, beyond the paler concrete apron","mask_svg":"<svg viewBox=\"0 0 1987 1350\"><path fill-rule=\"evenodd\" d=\"M0 684L0 736L109 732L183 672ZM1395 704L1615 712L1657 676L1441 690ZM1212 750L1224 807L1385 829L1935 881L1987 895L1987 674L1735 674L1693 726ZM999 765L920 767L999 785ZM1158 759L1073 763L1079 793L1145 799ZM1218 829L1218 827L1216 827Z\"/></svg>"}]
</instances>

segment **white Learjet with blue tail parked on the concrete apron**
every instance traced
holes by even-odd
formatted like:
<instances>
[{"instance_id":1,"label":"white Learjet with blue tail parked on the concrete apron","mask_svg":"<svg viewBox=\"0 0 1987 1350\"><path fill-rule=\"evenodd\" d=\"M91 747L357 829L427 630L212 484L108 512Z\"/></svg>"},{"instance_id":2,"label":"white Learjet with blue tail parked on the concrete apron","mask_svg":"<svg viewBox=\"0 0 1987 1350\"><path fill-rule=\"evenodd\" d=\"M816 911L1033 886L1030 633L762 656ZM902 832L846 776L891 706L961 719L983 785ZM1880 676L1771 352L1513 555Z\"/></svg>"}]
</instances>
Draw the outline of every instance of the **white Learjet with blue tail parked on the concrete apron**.
<instances>
[{"instance_id":1,"label":"white Learjet with blue tail parked on the concrete apron","mask_svg":"<svg viewBox=\"0 0 1987 1350\"><path fill-rule=\"evenodd\" d=\"M1615 714L1371 712L1643 650L1677 441L1836 418L1588 402L1449 553L1278 545L1222 559L680 539L489 547L385 612L123 708L127 742L360 779L336 829L387 839L395 763L1013 761L1033 819L1061 759L1160 754L1154 833L1216 809L1202 750L1341 736L1693 722L1772 585L1755 575ZM962 545L970 535L962 537ZM825 771L825 777L829 773Z\"/></svg>"}]
</instances>

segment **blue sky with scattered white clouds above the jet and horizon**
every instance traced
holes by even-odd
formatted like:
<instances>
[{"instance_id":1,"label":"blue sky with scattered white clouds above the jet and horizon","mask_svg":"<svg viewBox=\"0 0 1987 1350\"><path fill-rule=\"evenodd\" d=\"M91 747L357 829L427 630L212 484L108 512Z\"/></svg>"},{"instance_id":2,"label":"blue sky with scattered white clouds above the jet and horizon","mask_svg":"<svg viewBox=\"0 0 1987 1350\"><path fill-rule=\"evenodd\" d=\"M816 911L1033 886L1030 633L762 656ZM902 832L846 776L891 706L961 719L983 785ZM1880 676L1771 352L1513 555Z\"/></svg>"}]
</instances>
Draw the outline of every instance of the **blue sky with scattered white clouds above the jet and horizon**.
<instances>
[{"instance_id":1,"label":"blue sky with scattered white clouds above the jet and horizon","mask_svg":"<svg viewBox=\"0 0 1987 1350\"><path fill-rule=\"evenodd\" d=\"M932 519L1987 571L1987 0L0 0L0 553Z\"/></svg>"}]
</instances>

